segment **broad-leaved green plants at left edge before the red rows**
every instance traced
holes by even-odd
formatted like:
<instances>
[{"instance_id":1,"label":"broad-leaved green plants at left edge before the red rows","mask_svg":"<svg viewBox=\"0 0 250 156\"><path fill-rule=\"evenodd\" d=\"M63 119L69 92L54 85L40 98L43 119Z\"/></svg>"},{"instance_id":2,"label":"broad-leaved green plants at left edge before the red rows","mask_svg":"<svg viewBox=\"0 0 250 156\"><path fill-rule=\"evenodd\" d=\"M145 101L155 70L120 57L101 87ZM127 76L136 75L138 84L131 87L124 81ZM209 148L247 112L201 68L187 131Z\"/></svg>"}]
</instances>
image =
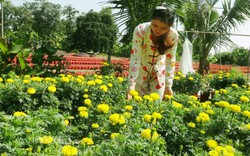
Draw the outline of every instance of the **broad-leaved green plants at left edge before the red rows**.
<instances>
[{"instance_id":1,"label":"broad-leaved green plants at left edge before the red rows","mask_svg":"<svg viewBox=\"0 0 250 156\"><path fill-rule=\"evenodd\" d=\"M61 73L65 69L63 56L55 55L57 49L46 42L37 43L33 34L18 38L11 36L10 43L1 40L1 75L43 75ZM63 62L64 61L64 62Z\"/></svg>"}]
</instances>

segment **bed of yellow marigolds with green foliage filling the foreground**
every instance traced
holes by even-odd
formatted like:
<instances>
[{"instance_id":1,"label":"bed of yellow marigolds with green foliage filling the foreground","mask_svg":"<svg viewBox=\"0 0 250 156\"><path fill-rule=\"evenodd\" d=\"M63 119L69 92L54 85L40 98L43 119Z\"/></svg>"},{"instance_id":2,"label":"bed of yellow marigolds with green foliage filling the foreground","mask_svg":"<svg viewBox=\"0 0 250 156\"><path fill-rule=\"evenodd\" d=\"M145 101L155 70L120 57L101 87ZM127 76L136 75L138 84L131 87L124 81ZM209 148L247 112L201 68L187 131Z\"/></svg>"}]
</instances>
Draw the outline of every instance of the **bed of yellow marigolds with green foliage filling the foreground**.
<instances>
[{"instance_id":1,"label":"bed of yellow marigolds with green foliage filling the foreground","mask_svg":"<svg viewBox=\"0 0 250 156\"><path fill-rule=\"evenodd\" d=\"M250 152L246 86L200 102L187 94L127 101L126 85L112 75L1 78L0 154L66 155L62 148L71 145L78 155L199 156L219 150L208 140L237 156ZM93 145L83 143L86 137Z\"/></svg>"}]
</instances>

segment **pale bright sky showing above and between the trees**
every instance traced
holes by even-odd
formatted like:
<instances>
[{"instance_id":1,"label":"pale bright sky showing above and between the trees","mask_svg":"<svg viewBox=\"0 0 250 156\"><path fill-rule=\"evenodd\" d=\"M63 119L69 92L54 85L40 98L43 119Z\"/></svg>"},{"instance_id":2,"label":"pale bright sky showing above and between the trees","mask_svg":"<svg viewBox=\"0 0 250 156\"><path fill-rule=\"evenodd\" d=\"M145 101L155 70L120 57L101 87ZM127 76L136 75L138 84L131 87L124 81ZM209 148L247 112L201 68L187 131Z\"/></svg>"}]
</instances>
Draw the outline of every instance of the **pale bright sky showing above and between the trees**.
<instances>
[{"instance_id":1,"label":"pale bright sky showing above and between the trees","mask_svg":"<svg viewBox=\"0 0 250 156\"><path fill-rule=\"evenodd\" d=\"M107 4L103 4L102 2L106 2L107 0L48 0L54 4L60 4L62 7L71 5L76 10L82 12L89 12L91 9L99 12L103 7L108 6ZM20 6L24 2L34 2L34 0L12 0L12 4L15 6ZM218 6L220 7L220 6ZM231 36L231 40L238 46L250 49L250 19L244 23L244 25L240 25L235 31L231 33L235 34L246 34L249 36Z\"/></svg>"}]
</instances>

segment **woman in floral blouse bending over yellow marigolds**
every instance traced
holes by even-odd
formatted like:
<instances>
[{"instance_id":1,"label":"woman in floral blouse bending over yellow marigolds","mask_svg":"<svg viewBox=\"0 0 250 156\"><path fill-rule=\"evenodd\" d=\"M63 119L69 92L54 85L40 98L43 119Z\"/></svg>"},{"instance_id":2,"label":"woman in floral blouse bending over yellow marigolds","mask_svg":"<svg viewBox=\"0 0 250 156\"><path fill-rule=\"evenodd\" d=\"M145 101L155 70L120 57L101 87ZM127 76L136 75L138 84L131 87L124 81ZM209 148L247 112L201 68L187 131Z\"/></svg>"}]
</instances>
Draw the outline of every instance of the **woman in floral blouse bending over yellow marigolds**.
<instances>
[{"instance_id":1,"label":"woman in floral blouse bending over yellow marigolds","mask_svg":"<svg viewBox=\"0 0 250 156\"><path fill-rule=\"evenodd\" d=\"M135 28L128 74L128 99L131 99L131 90L138 91L141 96L156 92L161 99L166 94L173 94L178 44L178 32L172 27L174 19L173 10L158 6L150 22Z\"/></svg>"}]
</instances>

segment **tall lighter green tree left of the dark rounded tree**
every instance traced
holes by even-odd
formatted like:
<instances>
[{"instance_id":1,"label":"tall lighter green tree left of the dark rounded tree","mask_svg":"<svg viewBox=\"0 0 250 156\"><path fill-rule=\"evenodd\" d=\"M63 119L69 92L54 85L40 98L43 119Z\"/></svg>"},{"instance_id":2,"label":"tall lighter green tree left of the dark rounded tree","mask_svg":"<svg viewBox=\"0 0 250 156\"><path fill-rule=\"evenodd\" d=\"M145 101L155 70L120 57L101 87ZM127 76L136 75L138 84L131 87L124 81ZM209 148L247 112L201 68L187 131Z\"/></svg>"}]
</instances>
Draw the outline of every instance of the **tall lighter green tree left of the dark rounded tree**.
<instances>
[{"instance_id":1,"label":"tall lighter green tree left of the dark rounded tree","mask_svg":"<svg viewBox=\"0 0 250 156\"><path fill-rule=\"evenodd\" d=\"M32 11L35 21L32 28L41 40L60 48L59 42L65 38L64 32L61 32L61 5L49 3L47 0L36 0L24 3L24 7Z\"/></svg>"}]
</instances>

